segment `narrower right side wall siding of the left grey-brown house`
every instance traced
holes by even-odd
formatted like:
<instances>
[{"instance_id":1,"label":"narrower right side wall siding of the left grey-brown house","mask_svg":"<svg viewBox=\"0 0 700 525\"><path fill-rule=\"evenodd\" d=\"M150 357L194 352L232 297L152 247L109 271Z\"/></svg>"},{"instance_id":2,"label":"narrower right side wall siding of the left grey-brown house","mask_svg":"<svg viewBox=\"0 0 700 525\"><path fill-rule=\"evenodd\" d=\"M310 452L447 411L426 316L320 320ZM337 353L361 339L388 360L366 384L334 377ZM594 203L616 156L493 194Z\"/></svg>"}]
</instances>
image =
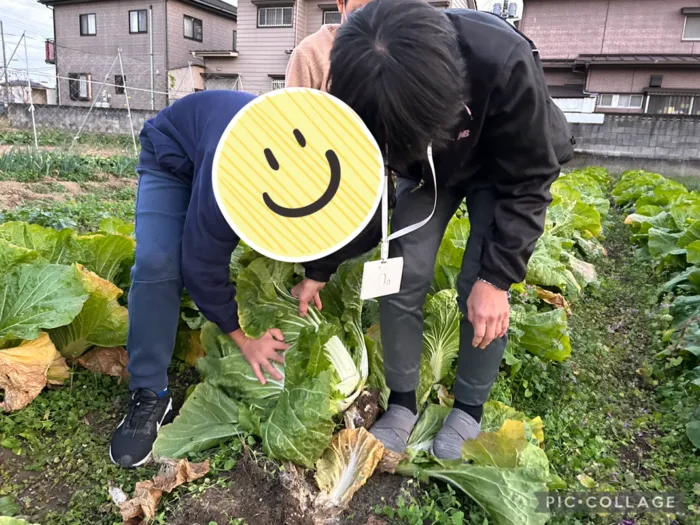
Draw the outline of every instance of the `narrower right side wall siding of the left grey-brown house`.
<instances>
[{"instance_id":1,"label":"narrower right side wall siding of the left grey-brown house","mask_svg":"<svg viewBox=\"0 0 700 525\"><path fill-rule=\"evenodd\" d=\"M202 21L202 42L185 38L184 16ZM202 64L192 56L192 51L228 51L233 47L233 31L236 21L199 9L190 4L168 0L168 68L178 69L188 62ZM239 35L238 41L241 42Z\"/></svg>"}]
</instances>

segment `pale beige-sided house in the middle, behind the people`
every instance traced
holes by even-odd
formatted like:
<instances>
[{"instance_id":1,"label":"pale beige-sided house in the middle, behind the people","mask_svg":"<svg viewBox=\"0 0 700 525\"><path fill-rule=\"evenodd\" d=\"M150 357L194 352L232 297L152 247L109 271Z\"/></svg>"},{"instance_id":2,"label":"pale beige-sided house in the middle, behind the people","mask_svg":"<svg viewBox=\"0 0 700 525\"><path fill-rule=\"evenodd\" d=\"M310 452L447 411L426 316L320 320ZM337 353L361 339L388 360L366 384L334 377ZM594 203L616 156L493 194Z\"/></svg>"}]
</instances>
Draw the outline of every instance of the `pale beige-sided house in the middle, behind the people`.
<instances>
[{"instance_id":1,"label":"pale beige-sided house in the middle, behind the people","mask_svg":"<svg viewBox=\"0 0 700 525\"><path fill-rule=\"evenodd\" d=\"M475 0L437 0L438 9L476 8ZM333 0L238 0L238 46L235 56L205 56L207 89L241 89L264 93L284 87L294 48L323 24L338 23Z\"/></svg>"}]
</instances>

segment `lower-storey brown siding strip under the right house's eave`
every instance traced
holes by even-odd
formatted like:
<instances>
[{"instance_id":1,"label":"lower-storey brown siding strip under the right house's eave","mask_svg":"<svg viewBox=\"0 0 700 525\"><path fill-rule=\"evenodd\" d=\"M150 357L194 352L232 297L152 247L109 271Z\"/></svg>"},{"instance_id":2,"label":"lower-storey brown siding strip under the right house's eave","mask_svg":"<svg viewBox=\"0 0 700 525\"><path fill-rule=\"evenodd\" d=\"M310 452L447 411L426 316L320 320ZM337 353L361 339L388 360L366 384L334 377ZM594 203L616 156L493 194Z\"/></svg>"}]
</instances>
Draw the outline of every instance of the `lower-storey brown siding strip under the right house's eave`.
<instances>
[{"instance_id":1,"label":"lower-storey brown siding strip under the right house's eave","mask_svg":"<svg viewBox=\"0 0 700 525\"><path fill-rule=\"evenodd\" d=\"M649 87L649 77L663 75L665 89L700 88L700 71L673 69L600 69L588 73L588 91L591 93L642 93Z\"/></svg>"}]
</instances>

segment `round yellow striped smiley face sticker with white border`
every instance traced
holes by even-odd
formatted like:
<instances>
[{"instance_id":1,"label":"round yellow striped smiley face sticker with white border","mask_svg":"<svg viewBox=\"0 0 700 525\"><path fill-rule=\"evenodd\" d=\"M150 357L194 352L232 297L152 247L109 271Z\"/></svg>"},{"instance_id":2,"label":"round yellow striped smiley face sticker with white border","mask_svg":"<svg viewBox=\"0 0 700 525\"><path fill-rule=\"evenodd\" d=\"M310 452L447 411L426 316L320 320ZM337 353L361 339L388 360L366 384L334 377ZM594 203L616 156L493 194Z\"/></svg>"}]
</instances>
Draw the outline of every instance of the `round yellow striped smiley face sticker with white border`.
<instances>
[{"instance_id":1,"label":"round yellow striped smiley face sticker with white border","mask_svg":"<svg viewBox=\"0 0 700 525\"><path fill-rule=\"evenodd\" d=\"M367 226L384 188L381 150L349 106L290 88L251 101L214 157L216 201L236 234L284 262L331 254Z\"/></svg>"}]
</instances>

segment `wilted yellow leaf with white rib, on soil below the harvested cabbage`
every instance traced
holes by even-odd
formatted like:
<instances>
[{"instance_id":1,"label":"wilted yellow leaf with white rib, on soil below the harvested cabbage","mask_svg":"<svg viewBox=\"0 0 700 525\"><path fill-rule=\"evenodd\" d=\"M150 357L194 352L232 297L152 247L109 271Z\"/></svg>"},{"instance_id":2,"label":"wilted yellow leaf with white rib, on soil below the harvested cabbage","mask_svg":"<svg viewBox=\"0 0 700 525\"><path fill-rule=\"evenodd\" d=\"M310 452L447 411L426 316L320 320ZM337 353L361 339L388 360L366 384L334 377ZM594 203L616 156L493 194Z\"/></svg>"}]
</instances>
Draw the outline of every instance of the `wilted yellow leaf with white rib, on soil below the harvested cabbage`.
<instances>
[{"instance_id":1,"label":"wilted yellow leaf with white rib, on soil below the harvested cabbage","mask_svg":"<svg viewBox=\"0 0 700 525\"><path fill-rule=\"evenodd\" d=\"M316 505L345 508L383 455L384 445L364 428L338 432L316 462L316 483L321 489Z\"/></svg>"}]
</instances>

